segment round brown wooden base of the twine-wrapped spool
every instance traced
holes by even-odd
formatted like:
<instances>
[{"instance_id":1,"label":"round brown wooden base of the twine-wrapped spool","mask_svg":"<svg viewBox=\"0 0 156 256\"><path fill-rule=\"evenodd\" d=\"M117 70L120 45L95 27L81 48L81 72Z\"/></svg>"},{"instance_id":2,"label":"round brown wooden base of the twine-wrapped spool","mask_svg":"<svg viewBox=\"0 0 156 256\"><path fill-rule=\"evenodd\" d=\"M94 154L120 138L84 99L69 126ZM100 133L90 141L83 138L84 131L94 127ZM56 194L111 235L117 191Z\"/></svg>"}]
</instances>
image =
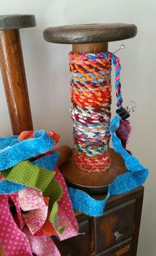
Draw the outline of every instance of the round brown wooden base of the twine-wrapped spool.
<instances>
[{"instance_id":1,"label":"round brown wooden base of the twine-wrapped spool","mask_svg":"<svg viewBox=\"0 0 156 256\"><path fill-rule=\"evenodd\" d=\"M79 188L89 194L104 194L108 185L120 174L126 172L126 166L121 155L113 149L109 149L111 166L103 172L85 172L75 166L75 159L72 156L62 164L61 170L68 186Z\"/></svg>"}]
</instances>

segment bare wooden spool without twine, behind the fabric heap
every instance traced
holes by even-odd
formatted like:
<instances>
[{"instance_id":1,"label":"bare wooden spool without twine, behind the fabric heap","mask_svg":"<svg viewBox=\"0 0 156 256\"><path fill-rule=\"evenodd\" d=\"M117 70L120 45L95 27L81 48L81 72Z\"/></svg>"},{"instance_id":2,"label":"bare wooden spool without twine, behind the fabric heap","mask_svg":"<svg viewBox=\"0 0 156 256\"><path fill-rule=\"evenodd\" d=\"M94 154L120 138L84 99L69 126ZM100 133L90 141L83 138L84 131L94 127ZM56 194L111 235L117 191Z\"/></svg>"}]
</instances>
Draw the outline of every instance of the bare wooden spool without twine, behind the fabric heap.
<instances>
[{"instance_id":1,"label":"bare wooden spool without twine, behind the fabric heap","mask_svg":"<svg viewBox=\"0 0 156 256\"><path fill-rule=\"evenodd\" d=\"M34 15L0 16L0 66L14 135L33 129L19 29L35 26Z\"/></svg>"}]
</instances>

